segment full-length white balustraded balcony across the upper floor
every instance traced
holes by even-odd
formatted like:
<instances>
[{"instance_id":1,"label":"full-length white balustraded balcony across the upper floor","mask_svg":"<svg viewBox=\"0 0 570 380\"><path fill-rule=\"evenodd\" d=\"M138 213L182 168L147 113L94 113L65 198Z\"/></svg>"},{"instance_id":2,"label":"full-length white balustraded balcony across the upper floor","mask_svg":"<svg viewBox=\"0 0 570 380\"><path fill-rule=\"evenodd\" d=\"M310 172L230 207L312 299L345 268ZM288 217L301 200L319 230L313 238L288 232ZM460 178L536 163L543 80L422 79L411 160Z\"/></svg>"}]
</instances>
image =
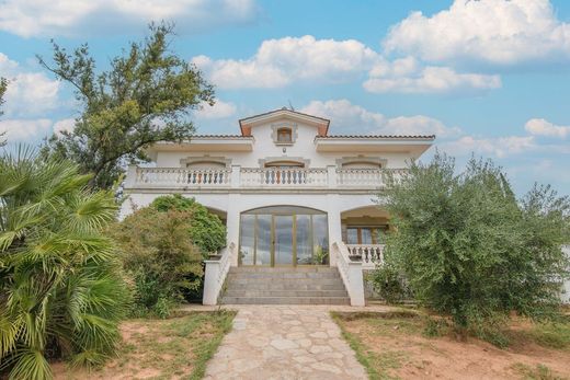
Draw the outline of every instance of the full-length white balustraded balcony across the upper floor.
<instances>
[{"instance_id":1,"label":"full-length white balustraded balcony across the upper floor","mask_svg":"<svg viewBox=\"0 0 570 380\"><path fill-rule=\"evenodd\" d=\"M337 166L185 169L129 166L127 189L335 189L374 191L387 175L398 179L404 169L338 169Z\"/></svg>"}]
</instances>

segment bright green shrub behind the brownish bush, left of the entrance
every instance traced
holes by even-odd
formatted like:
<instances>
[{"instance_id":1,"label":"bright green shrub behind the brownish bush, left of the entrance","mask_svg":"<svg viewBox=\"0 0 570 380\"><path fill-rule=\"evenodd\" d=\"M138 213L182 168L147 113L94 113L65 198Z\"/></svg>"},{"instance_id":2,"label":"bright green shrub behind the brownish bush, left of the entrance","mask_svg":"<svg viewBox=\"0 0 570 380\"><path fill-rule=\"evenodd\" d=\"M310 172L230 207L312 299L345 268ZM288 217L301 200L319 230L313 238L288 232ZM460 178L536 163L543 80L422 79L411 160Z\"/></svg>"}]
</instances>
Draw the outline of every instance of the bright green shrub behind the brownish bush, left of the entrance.
<instances>
[{"instance_id":1,"label":"bright green shrub behind the brownish bush, left of the entrance","mask_svg":"<svg viewBox=\"0 0 570 380\"><path fill-rule=\"evenodd\" d=\"M152 207L159 211L187 211L190 239L201 249L204 258L226 246L226 227L217 215L209 212L194 198L180 194L161 196L152 201Z\"/></svg>"}]
</instances>

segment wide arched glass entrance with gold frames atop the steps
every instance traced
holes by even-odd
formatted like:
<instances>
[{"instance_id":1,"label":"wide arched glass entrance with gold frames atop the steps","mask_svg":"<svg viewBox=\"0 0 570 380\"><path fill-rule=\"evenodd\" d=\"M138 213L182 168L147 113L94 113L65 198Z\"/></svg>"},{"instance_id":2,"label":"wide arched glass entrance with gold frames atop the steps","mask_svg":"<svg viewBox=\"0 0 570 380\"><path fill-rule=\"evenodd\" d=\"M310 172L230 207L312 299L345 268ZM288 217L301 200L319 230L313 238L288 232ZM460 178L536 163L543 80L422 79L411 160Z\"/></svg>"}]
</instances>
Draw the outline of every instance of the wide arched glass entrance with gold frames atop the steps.
<instances>
[{"instance_id":1,"label":"wide arched glass entrance with gold frames atop the steps","mask_svg":"<svg viewBox=\"0 0 570 380\"><path fill-rule=\"evenodd\" d=\"M307 207L271 206L240 218L240 265L326 265L327 214Z\"/></svg>"}]
</instances>

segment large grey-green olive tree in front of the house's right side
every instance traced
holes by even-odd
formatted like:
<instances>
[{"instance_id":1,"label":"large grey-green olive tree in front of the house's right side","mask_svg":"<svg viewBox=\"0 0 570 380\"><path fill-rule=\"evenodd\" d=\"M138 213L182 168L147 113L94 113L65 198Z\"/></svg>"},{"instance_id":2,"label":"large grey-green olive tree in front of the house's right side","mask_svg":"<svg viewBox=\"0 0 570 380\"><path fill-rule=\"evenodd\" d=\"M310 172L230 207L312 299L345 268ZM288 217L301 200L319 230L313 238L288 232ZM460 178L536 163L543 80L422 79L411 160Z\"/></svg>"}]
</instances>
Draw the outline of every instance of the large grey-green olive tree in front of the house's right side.
<instances>
[{"instance_id":1,"label":"large grey-green olive tree in front of the house's right side","mask_svg":"<svg viewBox=\"0 0 570 380\"><path fill-rule=\"evenodd\" d=\"M570 241L568 197L535 185L517 201L492 162L472 159L455 174L454 160L437 153L412 163L381 200L395 226L387 262L457 329L490 338L513 310L534 319L558 310L569 264L560 249Z\"/></svg>"}]
</instances>

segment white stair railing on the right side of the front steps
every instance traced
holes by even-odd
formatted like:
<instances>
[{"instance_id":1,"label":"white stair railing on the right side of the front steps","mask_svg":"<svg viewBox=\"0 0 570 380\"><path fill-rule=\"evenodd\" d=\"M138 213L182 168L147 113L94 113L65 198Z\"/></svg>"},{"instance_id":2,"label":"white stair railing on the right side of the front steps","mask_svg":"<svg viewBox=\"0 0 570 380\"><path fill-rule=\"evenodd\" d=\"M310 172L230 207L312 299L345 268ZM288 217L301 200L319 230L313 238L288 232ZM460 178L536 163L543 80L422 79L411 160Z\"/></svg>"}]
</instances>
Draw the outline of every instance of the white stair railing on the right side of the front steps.
<instances>
[{"instance_id":1,"label":"white stair railing on the right side of the front steps","mask_svg":"<svg viewBox=\"0 0 570 380\"><path fill-rule=\"evenodd\" d=\"M362 262L353 262L350 258L349 249L343 242L332 243L332 254L337 257L337 267L351 298L351 306L365 306Z\"/></svg>"}]
</instances>

